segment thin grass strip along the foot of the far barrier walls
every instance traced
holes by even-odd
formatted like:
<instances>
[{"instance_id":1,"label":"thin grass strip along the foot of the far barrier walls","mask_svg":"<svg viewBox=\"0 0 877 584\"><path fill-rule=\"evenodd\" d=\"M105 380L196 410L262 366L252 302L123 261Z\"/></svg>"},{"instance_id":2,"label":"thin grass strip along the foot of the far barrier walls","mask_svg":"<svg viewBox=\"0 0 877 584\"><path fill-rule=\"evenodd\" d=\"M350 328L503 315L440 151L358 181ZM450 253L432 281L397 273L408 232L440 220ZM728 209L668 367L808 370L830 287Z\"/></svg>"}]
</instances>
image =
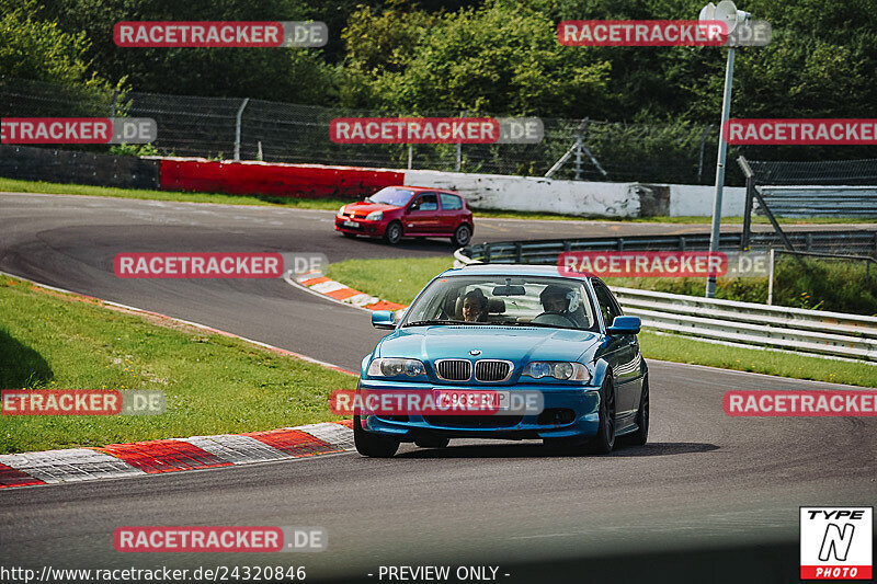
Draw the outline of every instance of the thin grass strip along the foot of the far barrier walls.
<instances>
[{"instance_id":1,"label":"thin grass strip along the foot of the far barrier walls","mask_svg":"<svg viewBox=\"0 0 877 584\"><path fill-rule=\"evenodd\" d=\"M115 188L110 186L91 186L83 184L57 184L39 181L20 181L16 179L0 178L0 192L8 193L45 193L52 195L90 195L102 197L139 198L149 201L174 201L181 203L216 203L221 205L255 205L289 207L301 209L324 209L337 210L341 205L351 203L351 199L337 198L298 198L281 197L269 195L227 195L223 193L182 193L178 191L149 191L145 188ZM638 217L634 219L606 219L605 217L578 217L574 215L559 215L553 213L528 213L510 211L501 209L478 209L475 210L476 217L494 219L542 219L557 221L633 221L649 224L704 224L710 221L709 217ZM784 225L808 225L808 224L869 224L877 222L877 218L861 217L839 217L825 218L813 217L805 219L779 218ZM722 217L725 225L739 225L743 222L742 217ZM767 224L766 217L753 216L753 224Z\"/></svg>"}]
</instances>

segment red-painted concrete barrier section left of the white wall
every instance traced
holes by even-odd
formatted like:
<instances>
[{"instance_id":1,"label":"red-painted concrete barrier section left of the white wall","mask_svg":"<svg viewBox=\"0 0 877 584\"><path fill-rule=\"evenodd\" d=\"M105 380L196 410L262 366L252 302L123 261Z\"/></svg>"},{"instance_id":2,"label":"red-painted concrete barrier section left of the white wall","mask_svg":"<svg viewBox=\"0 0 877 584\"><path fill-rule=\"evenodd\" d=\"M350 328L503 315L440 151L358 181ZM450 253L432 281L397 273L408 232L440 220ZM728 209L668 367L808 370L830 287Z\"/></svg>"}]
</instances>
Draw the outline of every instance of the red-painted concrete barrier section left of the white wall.
<instances>
[{"instance_id":1,"label":"red-painted concrete barrier section left of the white wall","mask_svg":"<svg viewBox=\"0 0 877 584\"><path fill-rule=\"evenodd\" d=\"M403 181L403 172L383 169L164 158L160 183L162 191L357 198Z\"/></svg>"}]
</instances>

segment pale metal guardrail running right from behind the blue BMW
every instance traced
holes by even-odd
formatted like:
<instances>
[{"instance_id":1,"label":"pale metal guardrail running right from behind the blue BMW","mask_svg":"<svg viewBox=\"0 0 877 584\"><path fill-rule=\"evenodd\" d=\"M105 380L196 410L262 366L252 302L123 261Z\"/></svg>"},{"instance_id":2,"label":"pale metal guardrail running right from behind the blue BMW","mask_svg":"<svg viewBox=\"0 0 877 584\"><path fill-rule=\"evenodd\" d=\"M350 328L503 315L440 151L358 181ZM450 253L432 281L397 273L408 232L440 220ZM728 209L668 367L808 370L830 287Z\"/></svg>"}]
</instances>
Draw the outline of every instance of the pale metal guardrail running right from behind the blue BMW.
<instances>
[{"instance_id":1,"label":"pale metal guardrail running right from behind the blue BMW","mask_svg":"<svg viewBox=\"0 0 877 584\"><path fill-rule=\"evenodd\" d=\"M465 251L467 249L463 248L454 253L455 267L482 263L464 253ZM542 249L535 248L533 251L540 253ZM542 255L538 257L542 259ZM555 255L554 262L557 261L556 257ZM877 317L698 298L635 288L612 289L625 313L639 317L646 328L726 344L877 363Z\"/></svg>"}]
</instances>

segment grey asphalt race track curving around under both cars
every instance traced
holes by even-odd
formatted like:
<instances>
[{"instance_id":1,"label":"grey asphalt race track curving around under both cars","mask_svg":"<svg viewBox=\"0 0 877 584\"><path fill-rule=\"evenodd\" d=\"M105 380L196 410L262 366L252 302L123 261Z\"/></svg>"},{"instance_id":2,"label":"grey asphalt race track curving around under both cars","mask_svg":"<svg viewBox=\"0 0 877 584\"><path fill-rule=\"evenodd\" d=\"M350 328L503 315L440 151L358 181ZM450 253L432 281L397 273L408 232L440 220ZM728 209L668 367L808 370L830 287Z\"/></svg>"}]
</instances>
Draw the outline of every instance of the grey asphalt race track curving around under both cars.
<instances>
[{"instance_id":1,"label":"grey asphalt race track curving around under both cars","mask_svg":"<svg viewBox=\"0 0 877 584\"><path fill-rule=\"evenodd\" d=\"M848 226L845 226L848 227ZM708 226L477 220L475 241L680 233ZM362 310L282 280L135 280L118 252L449 254L346 240L331 211L0 194L0 270L220 328L357 370L381 336ZM0 306L0 319L2 307ZM797 582L798 507L877 503L877 419L736 419L730 389L830 389L650 363L650 444L572 457L539 443L403 447L0 493L0 563L39 568L305 565L379 582L380 565L499 566L500 582ZM322 526L312 554L124 554L125 525ZM490 571L488 571L490 573ZM371 575L369 574L374 574ZM509 574L508 576L505 574ZM384 580L387 581L386 579Z\"/></svg>"}]
</instances>

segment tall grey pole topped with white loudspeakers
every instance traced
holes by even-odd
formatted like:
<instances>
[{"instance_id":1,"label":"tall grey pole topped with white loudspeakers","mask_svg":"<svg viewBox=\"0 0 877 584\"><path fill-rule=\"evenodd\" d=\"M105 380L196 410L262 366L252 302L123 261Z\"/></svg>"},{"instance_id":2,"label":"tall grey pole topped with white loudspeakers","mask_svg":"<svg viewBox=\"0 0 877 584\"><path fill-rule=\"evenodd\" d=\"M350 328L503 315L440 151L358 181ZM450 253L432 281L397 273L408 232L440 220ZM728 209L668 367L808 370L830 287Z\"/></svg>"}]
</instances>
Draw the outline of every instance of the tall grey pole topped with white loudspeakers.
<instances>
[{"instance_id":1,"label":"tall grey pole topped with white loudspeakers","mask_svg":"<svg viewBox=\"0 0 877 584\"><path fill-rule=\"evenodd\" d=\"M709 2L701 10L702 21L724 21L727 34L737 28L737 24L748 21L752 15L749 12L737 10L731 0L721 0L718 5ZM719 237L721 234L721 195L725 188L725 158L728 153L728 142L725 140L725 123L731 113L731 85L733 84L733 44L728 46L728 64L725 66L725 96L721 101L721 125L719 126L719 152L716 160L716 194L713 198L713 229L709 233L709 252L719 251ZM711 274L706 278L706 297L716 296L716 276Z\"/></svg>"}]
</instances>

